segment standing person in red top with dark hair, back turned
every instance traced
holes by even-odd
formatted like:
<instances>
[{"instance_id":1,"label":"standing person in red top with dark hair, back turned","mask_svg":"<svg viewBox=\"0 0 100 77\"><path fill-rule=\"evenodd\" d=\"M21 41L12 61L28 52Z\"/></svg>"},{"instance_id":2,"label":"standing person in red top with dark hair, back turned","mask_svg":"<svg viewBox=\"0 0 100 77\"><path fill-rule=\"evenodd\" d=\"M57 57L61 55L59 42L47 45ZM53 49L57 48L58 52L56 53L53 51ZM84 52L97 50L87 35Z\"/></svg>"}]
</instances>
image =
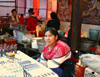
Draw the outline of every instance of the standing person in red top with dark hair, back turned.
<instances>
[{"instance_id":1,"label":"standing person in red top with dark hair, back turned","mask_svg":"<svg viewBox=\"0 0 100 77\"><path fill-rule=\"evenodd\" d=\"M38 20L37 17L34 16L34 12L33 8L28 10L30 17L27 19L27 30L31 34L36 33L36 26L38 25Z\"/></svg>"}]
</instances>

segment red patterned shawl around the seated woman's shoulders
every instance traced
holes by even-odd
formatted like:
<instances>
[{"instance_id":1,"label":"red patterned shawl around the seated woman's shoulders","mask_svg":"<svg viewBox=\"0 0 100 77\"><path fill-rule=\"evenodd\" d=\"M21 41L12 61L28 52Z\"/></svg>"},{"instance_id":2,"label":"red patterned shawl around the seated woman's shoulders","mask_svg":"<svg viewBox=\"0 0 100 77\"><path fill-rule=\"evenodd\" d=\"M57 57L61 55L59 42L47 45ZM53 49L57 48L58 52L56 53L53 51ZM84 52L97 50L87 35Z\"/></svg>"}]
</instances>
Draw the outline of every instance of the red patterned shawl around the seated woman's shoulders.
<instances>
[{"instance_id":1,"label":"red patterned shawl around the seated woman's shoulders","mask_svg":"<svg viewBox=\"0 0 100 77\"><path fill-rule=\"evenodd\" d=\"M43 49L43 57L47 60L52 60L54 58L59 58L70 52L70 47L59 40L56 42L55 46L49 50L49 46L46 45Z\"/></svg>"}]
</instances>

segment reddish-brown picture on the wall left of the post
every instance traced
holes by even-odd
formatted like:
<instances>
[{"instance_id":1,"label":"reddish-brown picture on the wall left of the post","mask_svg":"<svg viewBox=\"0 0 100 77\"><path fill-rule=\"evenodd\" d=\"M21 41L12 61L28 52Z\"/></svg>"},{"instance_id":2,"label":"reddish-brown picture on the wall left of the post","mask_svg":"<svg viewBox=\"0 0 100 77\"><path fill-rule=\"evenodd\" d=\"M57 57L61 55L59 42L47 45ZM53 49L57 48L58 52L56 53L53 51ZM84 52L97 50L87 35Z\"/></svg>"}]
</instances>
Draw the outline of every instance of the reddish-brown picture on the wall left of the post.
<instances>
[{"instance_id":1,"label":"reddish-brown picture on the wall left of the post","mask_svg":"<svg viewBox=\"0 0 100 77\"><path fill-rule=\"evenodd\" d=\"M57 0L57 16L60 21L70 21L72 0Z\"/></svg>"}]
</instances>

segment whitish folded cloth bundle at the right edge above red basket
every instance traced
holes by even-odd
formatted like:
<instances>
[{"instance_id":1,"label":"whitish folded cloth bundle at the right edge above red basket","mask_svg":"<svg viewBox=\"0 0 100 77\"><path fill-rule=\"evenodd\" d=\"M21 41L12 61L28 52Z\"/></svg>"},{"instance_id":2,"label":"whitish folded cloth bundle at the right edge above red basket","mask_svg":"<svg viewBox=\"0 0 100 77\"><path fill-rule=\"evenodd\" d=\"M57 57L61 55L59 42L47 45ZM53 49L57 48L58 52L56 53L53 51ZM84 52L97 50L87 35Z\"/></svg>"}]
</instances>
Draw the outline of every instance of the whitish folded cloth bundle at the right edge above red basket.
<instances>
[{"instance_id":1,"label":"whitish folded cloth bundle at the right edge above red basket","mask_svg":"<svg viewBox=\"0 0 100 77\"><path fill-rule=\"evenodd\" d=\"M86 66L100 74L100 55L83 54L79 58Z\"/></svg>"}]
</instances>

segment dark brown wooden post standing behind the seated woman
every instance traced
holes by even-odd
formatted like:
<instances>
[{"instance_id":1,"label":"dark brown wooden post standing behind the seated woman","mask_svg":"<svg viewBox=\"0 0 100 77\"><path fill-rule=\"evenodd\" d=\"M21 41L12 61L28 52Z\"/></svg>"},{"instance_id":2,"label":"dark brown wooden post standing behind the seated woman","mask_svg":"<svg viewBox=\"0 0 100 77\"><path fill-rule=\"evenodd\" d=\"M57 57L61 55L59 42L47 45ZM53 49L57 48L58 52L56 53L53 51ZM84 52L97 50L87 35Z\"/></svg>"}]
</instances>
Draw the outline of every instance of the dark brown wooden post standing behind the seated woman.
<instances>
[{"instance_id":1,"label":"dark brown wooden post standing behind the seated woman","mask_svg":"<svg viewBox=\"0 0 100 77\"><path fill-rule=\"evenodd\" d=\"M80 33L82 23L83 0L72 1L72 17L71 17L71 51L76 53L80 48ZM76 58L78 58L77 53Z\"/></svg>"}]
</instances>

